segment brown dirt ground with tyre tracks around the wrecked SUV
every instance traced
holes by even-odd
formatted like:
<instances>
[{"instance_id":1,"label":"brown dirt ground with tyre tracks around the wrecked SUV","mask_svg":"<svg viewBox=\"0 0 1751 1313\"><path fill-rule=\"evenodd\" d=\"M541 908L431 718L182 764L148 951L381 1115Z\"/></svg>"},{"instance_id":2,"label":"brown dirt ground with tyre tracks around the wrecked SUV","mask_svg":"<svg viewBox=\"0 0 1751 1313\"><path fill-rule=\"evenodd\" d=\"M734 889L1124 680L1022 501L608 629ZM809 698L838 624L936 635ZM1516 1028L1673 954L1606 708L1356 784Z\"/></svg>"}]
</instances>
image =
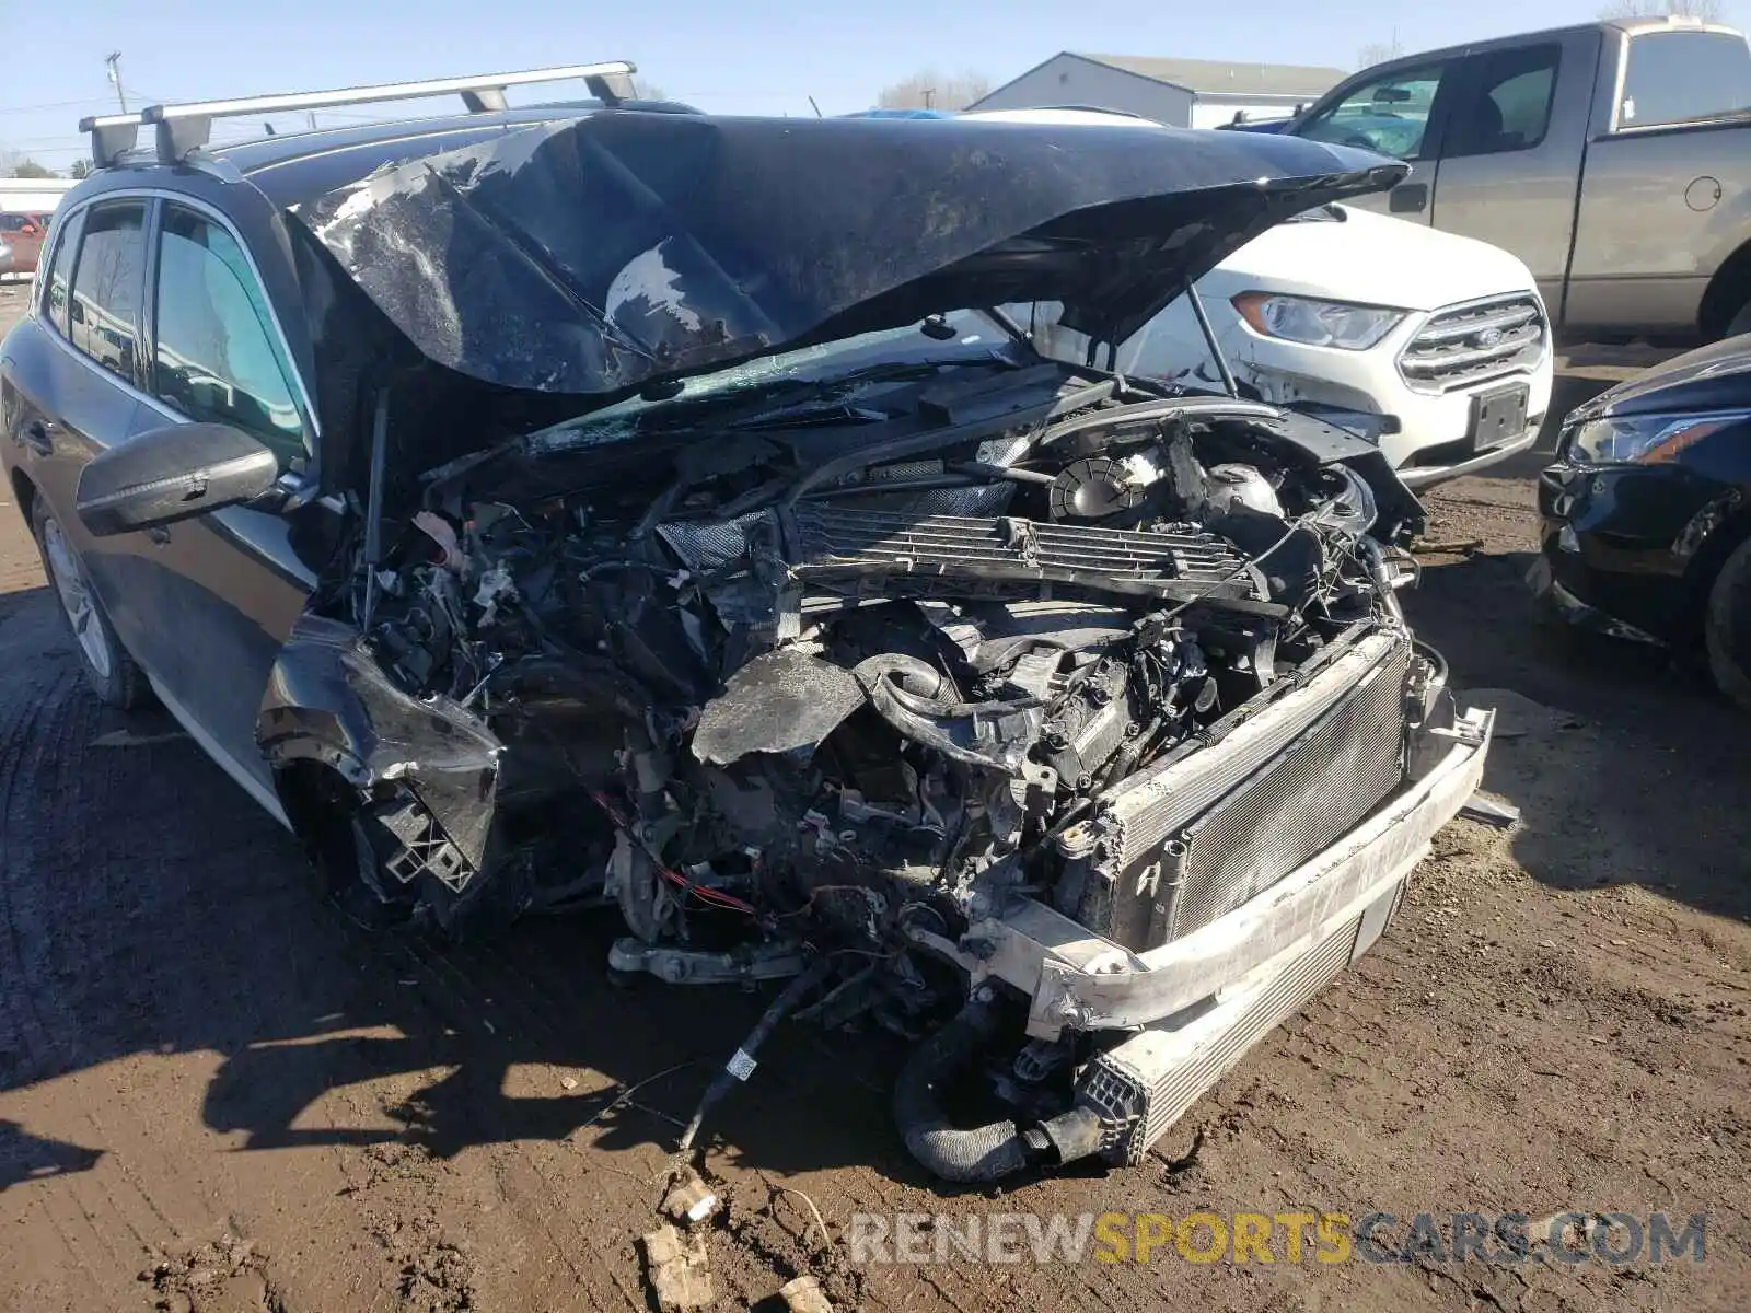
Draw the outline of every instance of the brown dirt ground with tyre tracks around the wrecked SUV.
<instances>
[{"instance_id":1,"label":"brown dirt ground with tyre tracks around the wrecked SUV","mask_svg":"<svg viewBox=\"0 0 1751 1313\"><path fill-rule=\"evenodd\" d=\"M21 299L0 289L0 317ZM1564 403L1625 368L1571 362ZM1530 699L1492 695L1488 788L1523 821L1443 832L1383 944L1138 1169L944 1192L891 1129L900 1047L781 1029L707 1124L714 1308L777 1308L798 1273L839 1308L912 1311L1746 1308L1747 723L1651 653L1532 625L1536 467L1431 497L1431 541L1474 546L1431 553L1410 597L1457 686ZM762 1000L615 989L590 919L368 938L172 721L86 693L53 607L0 508L0 1309L653 1306L636 1238L678 1119ZM1707 1248L1627 1267L846 1250L858 1211L1296 1208L1707 1213Z\"/></svg>"}]
</instances>

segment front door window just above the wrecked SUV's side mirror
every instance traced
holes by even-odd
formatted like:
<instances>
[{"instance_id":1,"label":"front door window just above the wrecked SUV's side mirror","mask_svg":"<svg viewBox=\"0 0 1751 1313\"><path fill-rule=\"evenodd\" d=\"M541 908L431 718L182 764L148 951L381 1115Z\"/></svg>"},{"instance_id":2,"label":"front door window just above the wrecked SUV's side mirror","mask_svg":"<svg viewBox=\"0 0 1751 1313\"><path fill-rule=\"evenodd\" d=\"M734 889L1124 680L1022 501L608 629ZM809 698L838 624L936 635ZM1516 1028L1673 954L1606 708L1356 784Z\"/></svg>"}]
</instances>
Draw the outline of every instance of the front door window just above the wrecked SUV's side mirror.
<instances>
[{"instance_id":1,"label":"front door window just above the wrecked SUV's side mirror","mask_svg":"<svg viewBox=\"0 0 1751 1313\"><path fill-rule=\"evenodd\" d=\"M236 238L177 205L165 207L158 254L154 390L193 420L261 438L282 467L305 453L266 294Z\"/></svg>"}]
</instances>

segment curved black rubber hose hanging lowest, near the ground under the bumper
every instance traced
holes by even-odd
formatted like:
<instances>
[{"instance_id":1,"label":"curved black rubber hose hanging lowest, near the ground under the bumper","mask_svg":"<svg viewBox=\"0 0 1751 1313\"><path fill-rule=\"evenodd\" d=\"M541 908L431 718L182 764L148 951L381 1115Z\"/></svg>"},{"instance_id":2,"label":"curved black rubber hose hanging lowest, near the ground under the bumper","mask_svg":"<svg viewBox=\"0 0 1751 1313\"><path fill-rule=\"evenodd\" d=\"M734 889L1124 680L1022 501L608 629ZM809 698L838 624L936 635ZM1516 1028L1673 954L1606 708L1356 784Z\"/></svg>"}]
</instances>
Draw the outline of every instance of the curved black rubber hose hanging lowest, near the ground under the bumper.
<instances>
[{"instance_id":1,"label":"curved black rubber hose hanging lowest, near the ground under the bumper","mask_svg":"<svg viewBox=\"0 0 1751 1313\"><path fill-rule=\"evenodd\" d=\"M998 1035L998 1010L979 1000L919 1045L893 1091L893 1119L905 1147L926 1169L953 1182L993 1182L1028 1166L1016 1122L958 1129L937 1092L960 1077Z\"/></svg>"}]
</instances>

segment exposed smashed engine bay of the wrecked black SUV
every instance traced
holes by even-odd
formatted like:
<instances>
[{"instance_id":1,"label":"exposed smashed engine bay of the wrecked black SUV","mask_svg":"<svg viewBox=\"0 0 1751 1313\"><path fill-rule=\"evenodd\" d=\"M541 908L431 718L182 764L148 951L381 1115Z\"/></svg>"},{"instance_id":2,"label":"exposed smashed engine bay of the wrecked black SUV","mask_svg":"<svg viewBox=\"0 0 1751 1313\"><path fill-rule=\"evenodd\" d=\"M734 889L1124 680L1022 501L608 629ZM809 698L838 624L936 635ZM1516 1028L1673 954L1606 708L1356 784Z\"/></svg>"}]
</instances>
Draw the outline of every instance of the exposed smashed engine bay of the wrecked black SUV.
<instances>
[{"instance_id":1,"label":"exposed smashed engine bay of the wrecked black SUV","mask_svg":"<svg viewBox=\"0 0 1751 1313\"><path fill-rule=\"evenodd\" d=\"M611 903L615 970L807 968L818 1021L912 1038L1007 909L1121 954L1187 935L1404 781L1438 658L1394 599L1417 502L1368 457L1268 406L993 355L602 413L431 471L333 606L469 765L410 749L361 788L369 893L445 926ZM1364 655L1378 695L1145 833L1203 788L1173 772ZM919 1061L998 1033L1000 979ZM1073 1085L1115 1036L1040 1031L991 1070L1028 1136L953 1131L942 1071L902 1080L933 1171L1112 1152L1124 1113Z\"/></svg>"}]
</instances>

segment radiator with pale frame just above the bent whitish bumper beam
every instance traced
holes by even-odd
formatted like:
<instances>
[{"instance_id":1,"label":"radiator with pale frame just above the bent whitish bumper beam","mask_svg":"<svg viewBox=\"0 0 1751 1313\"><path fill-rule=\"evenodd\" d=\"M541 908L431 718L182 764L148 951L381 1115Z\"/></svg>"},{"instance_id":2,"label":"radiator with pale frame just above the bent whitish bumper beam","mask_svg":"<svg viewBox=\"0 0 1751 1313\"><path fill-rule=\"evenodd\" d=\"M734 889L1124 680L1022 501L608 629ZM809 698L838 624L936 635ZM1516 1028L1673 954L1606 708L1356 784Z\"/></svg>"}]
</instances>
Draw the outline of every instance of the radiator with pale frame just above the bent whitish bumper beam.
<instances>
[{"instance_id":1,"label":"radiator with pale frame just above the bent whitish bumper beam","mask_svg":"<svg viewBox=\"0 0 1751 1313\"><path fill-rule=\"evenodd\" d=\"M1410 635L1378 630L1303 667L1105 795L1061 849L1082 872L1077 919L1143 952L1271 888L1404 777ZM1257 700L1255 700L1257 702ZM1068 909L1066 909L1068 910Z\"/></svg>"}]
</instances>

